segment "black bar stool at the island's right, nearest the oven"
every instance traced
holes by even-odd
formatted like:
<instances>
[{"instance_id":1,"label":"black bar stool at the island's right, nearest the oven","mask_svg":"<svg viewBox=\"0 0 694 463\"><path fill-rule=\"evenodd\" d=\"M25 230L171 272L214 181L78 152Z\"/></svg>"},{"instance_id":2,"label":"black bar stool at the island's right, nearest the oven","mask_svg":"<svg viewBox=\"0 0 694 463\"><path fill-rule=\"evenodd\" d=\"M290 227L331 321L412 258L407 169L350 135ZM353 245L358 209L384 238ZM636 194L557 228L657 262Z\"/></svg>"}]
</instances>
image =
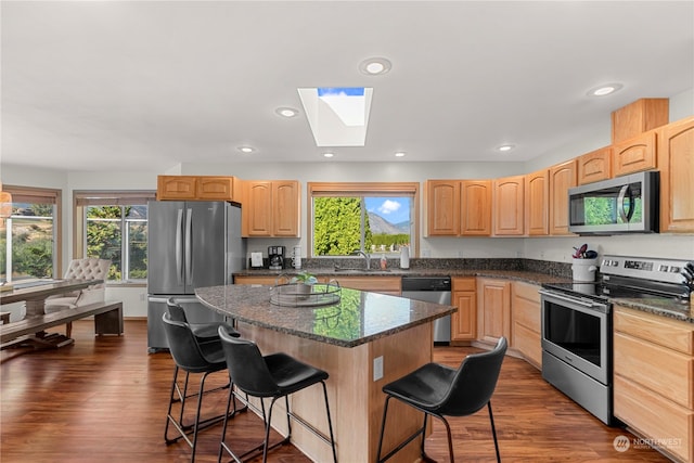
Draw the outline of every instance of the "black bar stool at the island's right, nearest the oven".
<instances>
[{"instance_id":1,"label":"black bar stool at the island's right, nearest the oven","mask_svg":"<svg viewBox=\"0 0 694 463\"><path fill-rule=\"evenodd\" d=\"M422 435L422 459L424 461L432 461L424 451L426 421L427 417L432 415L441 420L446 425L448 453L452 463L454 458L451 428L445 416L471 415L485 406L489 409L489 421L491 423L491 434L494 438L497 461L501 462L499 442L497 441L497 429L494 428L494 417L491 413L491 395L497 387L497 381L506 347L506 338L501 337L493 350L467 356L458 369L452 369L439 363L427 363L412 373L383 386L383 391L387 396L385 408L383 409L383 423L381 425L381 437L378 439L378 453L376 454L377 462L381 463L390 459L419 435ZM424 412L424 424L388 454L381 458L388 402L391 398L398 399Z\"/></svg>"}]
</instances>

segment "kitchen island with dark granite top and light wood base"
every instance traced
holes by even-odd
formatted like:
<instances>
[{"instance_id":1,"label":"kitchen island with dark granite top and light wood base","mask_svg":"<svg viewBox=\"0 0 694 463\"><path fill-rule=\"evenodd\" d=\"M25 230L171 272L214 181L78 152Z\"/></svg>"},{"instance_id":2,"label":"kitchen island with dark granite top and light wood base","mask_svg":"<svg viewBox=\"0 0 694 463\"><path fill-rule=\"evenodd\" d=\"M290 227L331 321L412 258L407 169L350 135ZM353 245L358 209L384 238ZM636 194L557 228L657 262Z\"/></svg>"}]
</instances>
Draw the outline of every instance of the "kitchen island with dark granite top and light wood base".
<instances>
[{"instance_id":1,"label":"kitchen island with dark granite top and light wood base","mask_svg":"<svg viewBox=\"0 0 694 463\"><path fill-rule=\"evenodd\" d=\"M339 300L330 305L279 306L270 301L271 291L265 285L224 285L198 288L196 295L205 306L235 319L242 336L256 342L264 355L283 351L325 370L338 461L374 461L385 400L381 388L432 361L432 322L455 308L349 288L342 288ZM312 388L296 394L292 409L327 435L317 394ZM414 409L396 403L391 409L389 420L398 425L386 432L386 451L422 420ZM283 413L274 413L272 424L286 433ZM313 461L332 460L330 446L301 426L293 426L292 435L293 443ZM401 456L415 461L417 442Z\"/></svg>"}]
</instances>

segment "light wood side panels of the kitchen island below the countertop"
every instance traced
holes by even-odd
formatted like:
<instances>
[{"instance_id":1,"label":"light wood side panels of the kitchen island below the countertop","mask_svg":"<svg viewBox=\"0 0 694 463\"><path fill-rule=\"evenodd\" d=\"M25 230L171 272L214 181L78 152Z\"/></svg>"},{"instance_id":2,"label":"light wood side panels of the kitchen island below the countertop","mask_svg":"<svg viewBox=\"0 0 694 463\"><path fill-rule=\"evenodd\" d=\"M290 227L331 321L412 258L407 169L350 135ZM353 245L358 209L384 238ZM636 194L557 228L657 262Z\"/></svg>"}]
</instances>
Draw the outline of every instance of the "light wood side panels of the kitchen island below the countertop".
<instances>
[{"instance_id":1,"label":"light wood side panels of the kitchen island below the countertop","mask_svg":"<svg viewBox=\"0 0 694 463\"><path fill-rule=\"evenodd\" d=\"M327 395L342 462L375 461L385 395L382 387L432 360L432 323L395 333L354 348L305 339L240 323L242 335L254 339L264 355L283 351L327 371ZM373 359L384 357L384 377L373 381ZM286 432L284 404L275 404L273 426ZM292 409L327 435L327 421L320 387L311 387L292 399ZM416 429L422 414L393 403L384 449L395 446ZM394 421L390 421L394 420ZM330 447L301 426L293 426L293 443L313 461L331 461ZM399 461L416 461L419 447L412 442L398 454ZM402 459L402 460L400 460Z\"/></svg>"}]
</instances>

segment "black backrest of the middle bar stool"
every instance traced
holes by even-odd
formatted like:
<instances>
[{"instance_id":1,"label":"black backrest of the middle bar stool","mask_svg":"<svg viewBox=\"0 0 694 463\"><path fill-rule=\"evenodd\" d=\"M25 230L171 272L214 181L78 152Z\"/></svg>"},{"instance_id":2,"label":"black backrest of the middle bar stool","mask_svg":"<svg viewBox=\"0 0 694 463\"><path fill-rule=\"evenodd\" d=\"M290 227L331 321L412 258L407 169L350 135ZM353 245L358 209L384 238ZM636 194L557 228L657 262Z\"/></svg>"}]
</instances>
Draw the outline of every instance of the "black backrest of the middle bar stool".
<instances>
[{"instance_id":1,"label":"black backrest of the middle bar stool","mask_svg":"<svg viewBox=\"0 0 694 463\"><path fill-rule=\"evenodd\" d=\"M232 337L223 326L219 327L219 337L229 376L236 387L255 397L275 397L282 394L255 343Z\"/></svg>"}]
</instances>

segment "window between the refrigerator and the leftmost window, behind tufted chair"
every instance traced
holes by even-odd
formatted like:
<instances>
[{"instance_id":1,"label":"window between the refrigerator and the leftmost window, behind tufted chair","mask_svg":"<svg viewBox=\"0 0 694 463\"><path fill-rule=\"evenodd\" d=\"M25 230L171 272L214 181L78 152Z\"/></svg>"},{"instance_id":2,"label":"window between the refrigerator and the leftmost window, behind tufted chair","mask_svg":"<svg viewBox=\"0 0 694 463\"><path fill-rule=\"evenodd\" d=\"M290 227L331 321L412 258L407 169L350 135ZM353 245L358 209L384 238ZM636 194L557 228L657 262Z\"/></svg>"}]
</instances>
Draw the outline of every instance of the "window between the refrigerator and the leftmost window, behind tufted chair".
<instances>
[{"instance_id":1,"label":"window between the refrigerator and the leftmost window, behind tufted chair","mask_svg":"<svg viewBox=\"0 0 694 463\"><path fill-rule=\"evenodd\" d=\"M147 278L147 201L154 192L75 191L75 255L110 259L110 282Z\"/></svg>"}]
</instances>

